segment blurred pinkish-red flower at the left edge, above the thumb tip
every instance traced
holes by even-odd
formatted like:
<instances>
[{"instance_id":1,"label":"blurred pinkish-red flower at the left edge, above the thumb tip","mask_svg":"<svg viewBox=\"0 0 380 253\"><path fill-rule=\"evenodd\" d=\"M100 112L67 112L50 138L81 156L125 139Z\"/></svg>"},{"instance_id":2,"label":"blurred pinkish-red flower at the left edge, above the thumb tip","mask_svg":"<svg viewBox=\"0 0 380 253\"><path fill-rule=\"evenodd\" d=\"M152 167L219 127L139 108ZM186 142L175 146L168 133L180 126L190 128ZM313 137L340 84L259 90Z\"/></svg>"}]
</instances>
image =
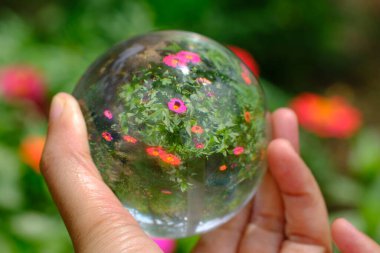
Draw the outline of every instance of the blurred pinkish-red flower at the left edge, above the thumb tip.
<instances>
[{"instance_id":1,"label":"blurred pinkish-red flower at the left edge, above the thumb tip","mask_svg":"<svg viewBox=\"0 0 380 253\"><path fill-rule=\"evenodd\" d=\"M29 66L0 69L0 92L7 99L27 99L41 105L45 97L45 81Z\"/></svg>"}]
</instances>

